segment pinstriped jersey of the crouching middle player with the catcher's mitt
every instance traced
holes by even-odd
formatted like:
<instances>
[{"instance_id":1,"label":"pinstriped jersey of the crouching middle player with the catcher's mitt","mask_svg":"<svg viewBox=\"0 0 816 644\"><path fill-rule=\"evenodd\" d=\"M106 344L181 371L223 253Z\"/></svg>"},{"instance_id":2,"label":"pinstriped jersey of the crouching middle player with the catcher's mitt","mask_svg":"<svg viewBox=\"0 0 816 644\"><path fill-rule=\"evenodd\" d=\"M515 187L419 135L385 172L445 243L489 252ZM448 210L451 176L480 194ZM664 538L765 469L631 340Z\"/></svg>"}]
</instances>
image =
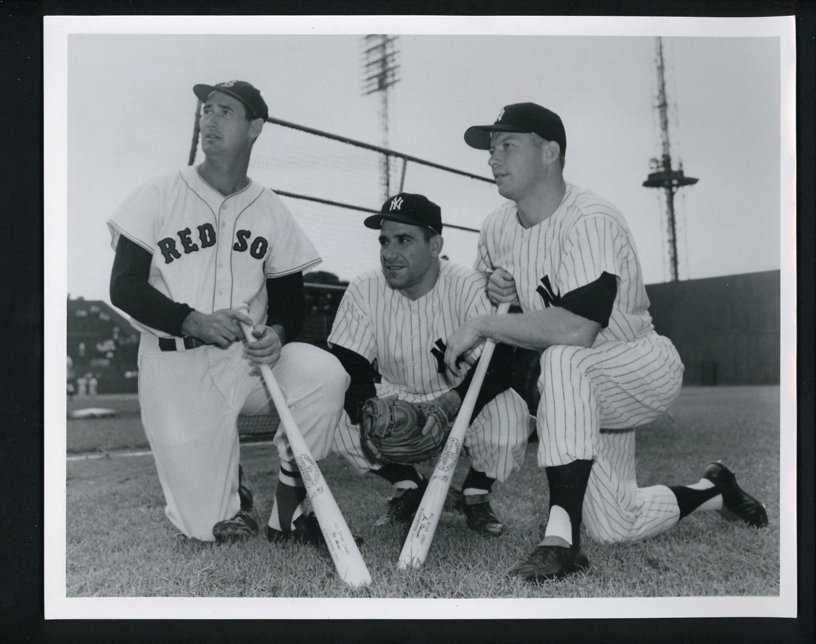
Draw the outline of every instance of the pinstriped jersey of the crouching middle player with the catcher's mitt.
<instances>
[{"instance_id":1,"label":"pinstriped jersey of the crouching middle player with the catcher's mitt","mask_svg":"<svg viewBox=\"0 0 816 644\"><path fill-rule=\"evenodd\" d=\"M486 283L481 273L441 260L431 291L410 300L379 269L363 273L344 293L328 342L376 360L382 395L438 398L463 380L445 369L443 343L468 318L490 313ZM464 362L470 366L480 354L481 345Z\"/></svg>"}]
</instances>

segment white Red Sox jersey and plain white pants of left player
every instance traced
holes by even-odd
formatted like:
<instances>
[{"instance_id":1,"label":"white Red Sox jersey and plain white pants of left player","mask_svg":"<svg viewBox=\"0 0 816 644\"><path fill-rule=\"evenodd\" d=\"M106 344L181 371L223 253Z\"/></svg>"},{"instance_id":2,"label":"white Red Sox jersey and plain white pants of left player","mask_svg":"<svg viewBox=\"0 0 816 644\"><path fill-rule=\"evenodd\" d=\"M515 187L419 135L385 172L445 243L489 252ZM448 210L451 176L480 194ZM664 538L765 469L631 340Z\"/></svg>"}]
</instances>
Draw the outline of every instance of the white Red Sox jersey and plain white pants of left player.
<instances>
[{"instance_id":1,"label":"white Red Sox jersey and plain white pants of left player","mask_svg":"<svg viewBox=\"0 0 816 644\"><path fill-rule=\"evenodd\" d=\"M114 250L124 235L153 255L149 283L201 313L251 304L266 319L266 279L317 264L314 246L269 189L250 182L224 197L196 168L150 181L108 222ZM162 351L166 333L133 321L139 346L139 401L171 522L190 537L213 540L212 526L240 509L239 413L267 411L268 393L242 342ZM315 459L331 446L343 411L348 374L326 351L282 348L273 373ZM281 460L294 460L284 433Z\"/></svg>"}]
</instances>

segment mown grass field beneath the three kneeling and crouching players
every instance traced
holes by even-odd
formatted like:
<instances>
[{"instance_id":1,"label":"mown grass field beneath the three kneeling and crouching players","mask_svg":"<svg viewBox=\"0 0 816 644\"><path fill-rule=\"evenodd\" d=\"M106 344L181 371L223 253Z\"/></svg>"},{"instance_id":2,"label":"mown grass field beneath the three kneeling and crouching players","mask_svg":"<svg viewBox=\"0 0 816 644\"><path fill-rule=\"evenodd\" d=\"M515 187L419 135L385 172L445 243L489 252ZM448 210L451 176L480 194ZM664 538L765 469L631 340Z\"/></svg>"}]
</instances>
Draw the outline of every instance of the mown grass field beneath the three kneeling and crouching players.
<instances>
[{"instance_id":1,"label":"mown grass field beneath the three kneeling and crouching players","mask_svg":"<svg viewBox=\"0 0 816 644\"><path fill-rule=\"evenodd\" d=\"M595 544L586 575L542 587L505 576L543 530L548 491L534 444L521 472L494 486L493 505L507 525L488 540L446 513L428 562L400 571L396 528L375 528L389 486L357 477L336 456L321 467L349 526L365 537L362 556L374 583L353 590L334 575L327 555L305 546L272 546L263 536L227 547L181 540L164 516L150 455L69 460L66 582L68 597L696 597L779 593L778 387L686 388L663 418L638 430L641 486L696 482L710 460L722 459L747 491L765 502L770 526L757 531L695 513L664 535L628 545ZM73 403L72 403L73 404ZM143 447L138 415L71 420L69 451ZM113 406L94 399L85 406ZM69 406L69 411L71 407ZM263 524L272 509L277 454L268 444L242 446L253 513ZM430 469L430 467L426 468ZM454 485L467 469L460 460Z\"/></svg>"}]
</instances>

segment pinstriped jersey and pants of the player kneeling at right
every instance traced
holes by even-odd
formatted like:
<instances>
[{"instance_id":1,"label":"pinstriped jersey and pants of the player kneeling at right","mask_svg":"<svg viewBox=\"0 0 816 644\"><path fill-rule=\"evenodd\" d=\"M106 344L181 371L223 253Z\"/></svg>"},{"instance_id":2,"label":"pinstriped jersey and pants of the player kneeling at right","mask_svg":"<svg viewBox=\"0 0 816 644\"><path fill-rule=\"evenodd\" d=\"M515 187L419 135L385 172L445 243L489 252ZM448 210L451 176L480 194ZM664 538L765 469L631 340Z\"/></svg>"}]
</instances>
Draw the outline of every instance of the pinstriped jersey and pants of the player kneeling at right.
<instances>
[{"instance_id":1,"label":"pinstriped jersey and pants of the player kneeling at right","mask_svg":"<svg viewBox=\"0 0 816 644\"><path fill-rule=\"evenodd\" d=\"M667 411L680 393L683 365L671 341L654 331L635 243L620 212L567 184L557 210L526 229L508 202L482 225L476 268L511 273L525 313L558 305L603 273L617 278L609 324L592 348L559 344L542 354L539 465L595 460L583 516L596 540L638 540L673 526L680 512L672 491L636 485L632 428Z\"/></svg>"}]
</instances>

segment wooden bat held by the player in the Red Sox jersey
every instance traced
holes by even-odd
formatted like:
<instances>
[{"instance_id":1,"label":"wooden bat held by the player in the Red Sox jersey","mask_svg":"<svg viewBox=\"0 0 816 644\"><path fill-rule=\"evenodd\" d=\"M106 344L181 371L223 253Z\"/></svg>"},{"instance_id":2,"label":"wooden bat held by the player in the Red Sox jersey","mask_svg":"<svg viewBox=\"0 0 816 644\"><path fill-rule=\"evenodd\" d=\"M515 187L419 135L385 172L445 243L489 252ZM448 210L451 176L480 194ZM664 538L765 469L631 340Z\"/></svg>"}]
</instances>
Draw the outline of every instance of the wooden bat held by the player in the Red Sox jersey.
<instances>
[{"instance_id":1,"label":"wooden bat held by the player in the Red Sox jersey","mask_svg":"<svg viewBox=\"0 0 816 644\"><path fill-rule=\"evenodd\" d=\"M249 307L246 304L242 304L237 309L249 313ZM246 335L246 340L250 342L256 340L252 335L252 326L241 322L241 328L244 335ZM348 524L337 506L335 497L331 494L326 479L317 467L312 452L309 451L304 437L292 417L292 412L286 404L286 398L283 397L283 392L275 380L272 369L269 365L264 364L259 364L258 367L261 376L264 378L264 383L266 383L269 395L272 396L275 403L277 415L281 417L283 431L286 433L286 438L289 439L292 453L295 455L295 461L300 470L300 476L303 477L306 486L306 494L308 494L308 498L312 502L317 522L320 524L320 529L326 538L331 559L335 562L337 575L346 584L355 588L367 586L371 583L371 575L368 568L366 568L366 562L363 561L360 550L357 549L357 544L354 543L352 532L348 529Z\"/></svg>"}]
</instances>

